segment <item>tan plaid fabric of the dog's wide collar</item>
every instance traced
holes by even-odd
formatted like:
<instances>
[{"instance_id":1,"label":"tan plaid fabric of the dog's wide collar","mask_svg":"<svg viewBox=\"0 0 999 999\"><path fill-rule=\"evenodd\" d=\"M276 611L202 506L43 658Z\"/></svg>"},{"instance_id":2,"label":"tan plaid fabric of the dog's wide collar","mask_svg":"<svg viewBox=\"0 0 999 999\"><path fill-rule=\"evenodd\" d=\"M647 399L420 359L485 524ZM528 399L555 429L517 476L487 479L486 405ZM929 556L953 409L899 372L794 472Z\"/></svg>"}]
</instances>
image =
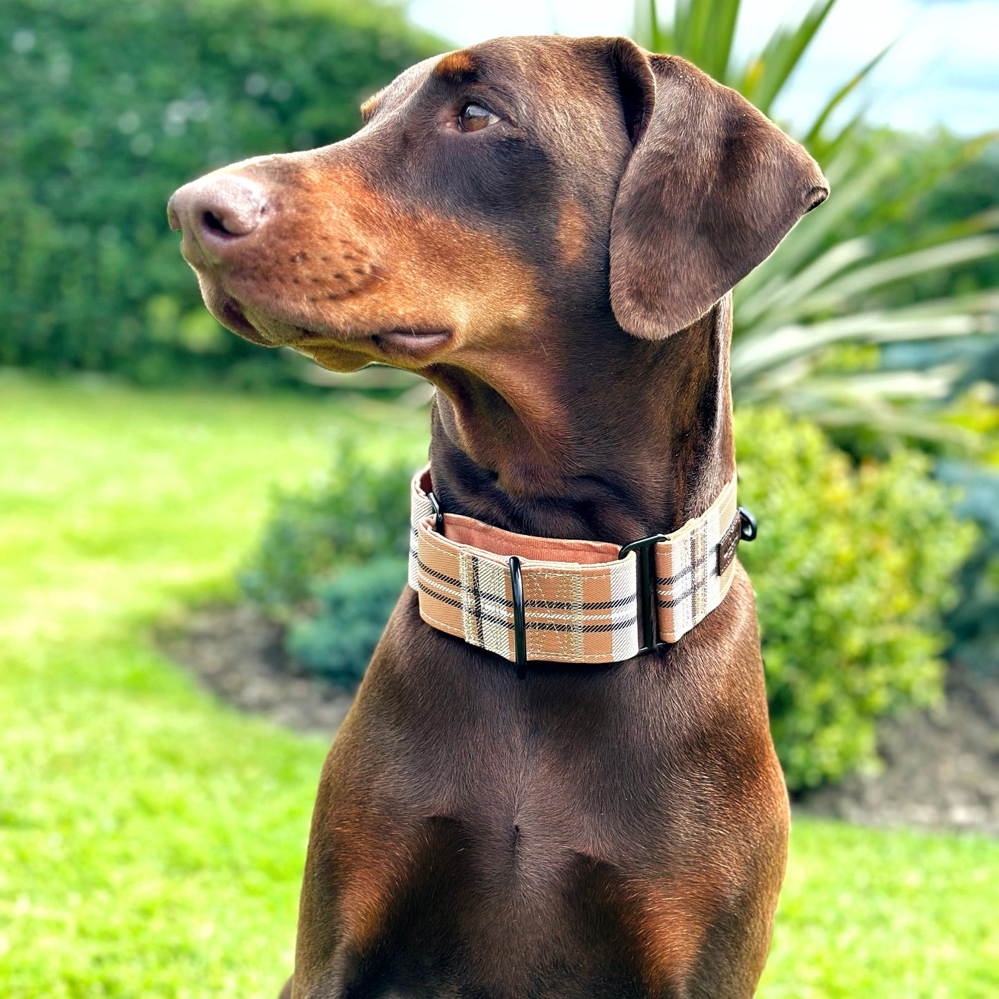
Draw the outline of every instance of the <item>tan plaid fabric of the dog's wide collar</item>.
<instances>
[{"instance_id":1,"label":"tan plaid fabric of the dog's wide collar","mask_svg":"<svg viewBox=\"0 0 999 999\"><path fill-rule=\"evenodd\" d=\"M431 489L428 468L413 480L410 543L410 585L428 624L515 661L508 559L516 555L528 660L619 662L637 654L634 552L618 558L617 544L530 537L453 513L445 513L441 534ZM724 599L736 516L733 481L702 516L655 545L660 641L676 641ZM719 543L728 551L720 574Z\"/></svg>"}]
</instances>

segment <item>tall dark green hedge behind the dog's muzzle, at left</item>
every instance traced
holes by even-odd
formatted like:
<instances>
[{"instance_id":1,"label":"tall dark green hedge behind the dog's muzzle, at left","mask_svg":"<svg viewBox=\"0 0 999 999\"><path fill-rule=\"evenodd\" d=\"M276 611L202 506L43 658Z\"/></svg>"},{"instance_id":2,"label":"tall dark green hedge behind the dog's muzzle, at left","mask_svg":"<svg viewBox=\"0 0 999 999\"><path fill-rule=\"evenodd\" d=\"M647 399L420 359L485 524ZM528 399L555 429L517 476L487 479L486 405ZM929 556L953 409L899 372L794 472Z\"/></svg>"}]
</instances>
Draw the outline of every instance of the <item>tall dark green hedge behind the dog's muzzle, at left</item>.
<instances>
[{"instance_id":1,"label":"tall dark green hedge behind the dog's muzzle, at left","mask_svg":"<svg viewBox=\"0 0 999 999\"><path fill-rule=\"evenodd\" d=\"M440 46L350 0L0 4L0 365L273 384L222 330L166 223L180 184L333 142Z\"/></svg>"}]
</instances>

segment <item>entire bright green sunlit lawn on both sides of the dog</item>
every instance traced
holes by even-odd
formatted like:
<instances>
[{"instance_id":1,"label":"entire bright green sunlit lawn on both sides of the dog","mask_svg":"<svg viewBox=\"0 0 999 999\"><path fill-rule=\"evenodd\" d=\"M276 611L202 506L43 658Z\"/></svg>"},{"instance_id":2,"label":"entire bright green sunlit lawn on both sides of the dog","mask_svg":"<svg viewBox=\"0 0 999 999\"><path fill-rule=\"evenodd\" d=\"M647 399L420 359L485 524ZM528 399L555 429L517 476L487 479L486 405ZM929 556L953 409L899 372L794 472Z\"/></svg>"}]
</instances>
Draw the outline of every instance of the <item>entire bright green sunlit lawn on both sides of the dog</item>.
<instances>
[{"instance_id":1,"label":"entire bright green sunlit lawn on both sides of the dog","mask_svg":"<svg viewBox=\"0 0 999 999\"><path fill-rule=\"evenodd\" d=\"M232 591L337 435L417 455L425 424L0 380L0 999L276 995L326 746L151 632ZM999 842L801 821L760 994L992 999L997 915Z\"/></svg>"}]
</instances>

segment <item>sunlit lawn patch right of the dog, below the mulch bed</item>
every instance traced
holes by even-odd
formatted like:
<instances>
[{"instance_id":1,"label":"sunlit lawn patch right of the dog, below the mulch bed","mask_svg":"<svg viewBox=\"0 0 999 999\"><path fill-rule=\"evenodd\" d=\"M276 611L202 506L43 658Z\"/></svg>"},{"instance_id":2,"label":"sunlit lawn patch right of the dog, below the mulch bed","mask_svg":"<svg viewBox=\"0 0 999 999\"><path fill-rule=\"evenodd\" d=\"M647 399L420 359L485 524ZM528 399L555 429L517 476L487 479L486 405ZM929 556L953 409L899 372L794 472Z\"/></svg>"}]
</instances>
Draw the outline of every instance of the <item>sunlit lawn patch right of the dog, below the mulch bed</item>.
<instances>
[{"instance_id":1,"label":"sunlit lawn patch right of the dog, below the mulch bed","mask_svg":"<svg viewBox=\"0 0 999 999\"><path fill-rule=\"evenodd\" d=\"M999 842L796 821L765 999L999 996Z\"/></svg>"}]
</instances>

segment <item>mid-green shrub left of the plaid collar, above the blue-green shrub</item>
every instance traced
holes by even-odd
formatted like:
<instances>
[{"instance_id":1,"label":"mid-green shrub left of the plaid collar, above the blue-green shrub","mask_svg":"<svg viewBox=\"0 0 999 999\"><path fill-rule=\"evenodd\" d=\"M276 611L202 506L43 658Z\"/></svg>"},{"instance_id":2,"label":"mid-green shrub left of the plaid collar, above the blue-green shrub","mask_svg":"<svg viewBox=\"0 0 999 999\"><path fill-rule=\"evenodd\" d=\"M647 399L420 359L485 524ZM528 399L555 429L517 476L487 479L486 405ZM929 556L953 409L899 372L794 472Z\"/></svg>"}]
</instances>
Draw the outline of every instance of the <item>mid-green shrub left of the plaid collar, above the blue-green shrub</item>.
<instances>
[{"instance_id":1,"label":"mid-green shrub left of the plaid collar, above the blue-green shrub","mask_svg":"<svg viewBox=\"0 0 999 999\"><path fill-rule=\"evenodd\" d=\"M312 489L275 497L264 536L240 573L243 591L287 619L346 566L393 554L405 561L413 468L399 461L373 465L341 444L330 472Z\"/></svg>"}]
</instances>

